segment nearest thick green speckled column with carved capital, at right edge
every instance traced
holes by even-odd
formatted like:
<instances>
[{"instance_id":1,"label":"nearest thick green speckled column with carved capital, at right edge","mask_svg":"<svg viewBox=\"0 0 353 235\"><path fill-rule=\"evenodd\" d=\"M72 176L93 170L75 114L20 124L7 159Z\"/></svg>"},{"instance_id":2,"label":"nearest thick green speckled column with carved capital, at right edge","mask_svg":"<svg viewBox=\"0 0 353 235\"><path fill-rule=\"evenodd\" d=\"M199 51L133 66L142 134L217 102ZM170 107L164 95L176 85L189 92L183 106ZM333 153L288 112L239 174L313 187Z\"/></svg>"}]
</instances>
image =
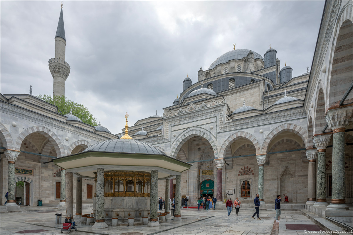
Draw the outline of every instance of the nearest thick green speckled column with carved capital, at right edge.
<instances>
[{"instance_id":1,"label":"nearest thick green speckled column with carved capital, at right edge","mask_svg":"<svg viewBox=\"0 0 353 235\"><path fill-rule=\"evenodd\" d=\"M352 105L329 109L326 122L332 130L332 198L326 210L349 210L345 199L345 131L352 118Z\"/></svg>"}]
</instances>

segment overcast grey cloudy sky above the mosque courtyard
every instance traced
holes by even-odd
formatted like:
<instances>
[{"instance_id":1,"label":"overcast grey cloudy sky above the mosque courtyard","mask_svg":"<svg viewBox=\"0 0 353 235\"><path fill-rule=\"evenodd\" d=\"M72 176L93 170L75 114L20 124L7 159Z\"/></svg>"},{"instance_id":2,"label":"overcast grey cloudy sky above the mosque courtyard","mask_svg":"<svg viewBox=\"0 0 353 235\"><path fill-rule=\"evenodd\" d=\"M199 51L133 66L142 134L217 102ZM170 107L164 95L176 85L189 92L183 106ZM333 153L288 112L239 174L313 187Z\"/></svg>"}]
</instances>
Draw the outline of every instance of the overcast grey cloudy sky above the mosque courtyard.
<instances>
[{"instance_id":1,"label":"overcast grey cloudy sky above the mosque courtyard","mask_svg":"<svg viewBox=\"0 0 353 235\"><path fill-rule=\"evenodd\" d=\"M162 115L227 51L277 50L293 76L311 67L324 1L64 1L65 96L113 134ZM60 1L1 1L2 94L53 94L48 60Z\"/></svg>"}]
</instances>

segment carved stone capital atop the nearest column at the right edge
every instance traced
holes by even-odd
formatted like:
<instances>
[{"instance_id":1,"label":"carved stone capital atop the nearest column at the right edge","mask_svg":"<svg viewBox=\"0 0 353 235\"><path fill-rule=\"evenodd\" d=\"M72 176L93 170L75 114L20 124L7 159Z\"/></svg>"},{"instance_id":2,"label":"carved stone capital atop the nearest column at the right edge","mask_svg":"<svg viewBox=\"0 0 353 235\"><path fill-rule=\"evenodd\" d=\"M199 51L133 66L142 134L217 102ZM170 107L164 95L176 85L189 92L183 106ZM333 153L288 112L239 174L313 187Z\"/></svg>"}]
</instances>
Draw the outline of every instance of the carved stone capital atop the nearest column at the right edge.
<instances>
[{"instance_id":1,"label":"carved stone capital atop the nearest column at the right edge","mask_svg":"<svg viewBox=\"0 0 353 235\"><path fill-rule=\"evenodd\" d=\"M352 105L329 109L325 115L325 119L329 128L333 132L335 132L335 129L346 128L349 119L352 117L352 112Z\"/></svg>"}]
</instances>

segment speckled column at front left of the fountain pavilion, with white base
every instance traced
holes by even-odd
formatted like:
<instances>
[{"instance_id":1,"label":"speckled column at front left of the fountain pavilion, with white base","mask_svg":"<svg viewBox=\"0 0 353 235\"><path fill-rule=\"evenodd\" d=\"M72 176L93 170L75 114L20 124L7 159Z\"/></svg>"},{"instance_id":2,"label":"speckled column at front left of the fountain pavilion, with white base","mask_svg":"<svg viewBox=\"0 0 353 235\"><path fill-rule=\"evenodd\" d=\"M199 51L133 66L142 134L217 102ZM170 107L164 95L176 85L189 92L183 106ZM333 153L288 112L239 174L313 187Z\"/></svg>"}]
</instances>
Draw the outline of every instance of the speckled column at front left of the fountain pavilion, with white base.
<instances>
[{"instance_id":1,"label":"speckled column at front left of the fountain pavilion, with white base","mask_svg":"<svg viewBox=\"0 0 353 235\"><path fill-rule=\"evenodd\" d=\"M96 183L96 222L91 228L107 228L109 227L104 222L104 169L97 169Z\"/></svg>"}]
</instances>

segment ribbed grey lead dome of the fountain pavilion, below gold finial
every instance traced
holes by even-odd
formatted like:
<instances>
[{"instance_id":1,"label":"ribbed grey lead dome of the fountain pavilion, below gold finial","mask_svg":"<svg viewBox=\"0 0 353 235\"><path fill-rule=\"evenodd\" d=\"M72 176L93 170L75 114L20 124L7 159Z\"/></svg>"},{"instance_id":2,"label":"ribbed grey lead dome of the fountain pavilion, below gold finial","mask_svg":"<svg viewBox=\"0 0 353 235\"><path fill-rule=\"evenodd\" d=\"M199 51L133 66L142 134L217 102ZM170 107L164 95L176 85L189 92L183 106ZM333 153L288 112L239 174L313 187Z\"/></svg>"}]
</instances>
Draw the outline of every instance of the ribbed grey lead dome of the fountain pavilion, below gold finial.
<instances>
[{"instance_id":1,"label":"ribbed grey lead dome of the fountain pavilion, below gold finial","mask_svg":"<svg viewBox=\"0 0 353 235\"><path fill-rule=\"evenodd\" d=\"M162 154L164 153L150 144L127 139L106 140L93 144L83 151L101 151L115 153L142 153L142 154Z\"/></svg>"}]
</instances>

